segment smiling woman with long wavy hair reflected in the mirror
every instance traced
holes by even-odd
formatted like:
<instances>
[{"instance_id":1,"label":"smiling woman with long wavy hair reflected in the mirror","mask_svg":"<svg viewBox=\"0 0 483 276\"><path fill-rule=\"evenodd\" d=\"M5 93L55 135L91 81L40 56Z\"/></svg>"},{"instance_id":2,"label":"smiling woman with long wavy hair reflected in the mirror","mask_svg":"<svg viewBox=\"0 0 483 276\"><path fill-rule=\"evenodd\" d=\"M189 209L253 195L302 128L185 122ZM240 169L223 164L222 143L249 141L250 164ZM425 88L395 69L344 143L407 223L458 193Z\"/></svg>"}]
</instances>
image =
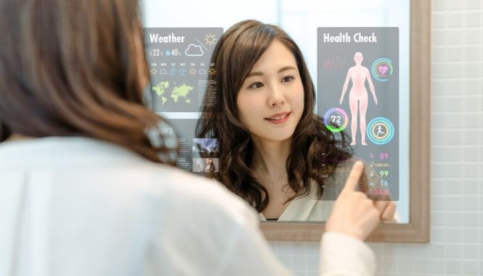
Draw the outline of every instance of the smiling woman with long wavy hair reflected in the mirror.
<instances>
[{"instance_id":1,"label":"smiling woman with long wavy hair reflected in the mirror","mask_svg":"<svg viewBox=\"0 0 483 276\"><path fill-rule=\"evenodd\" d=\"M345 135L337 140L313 114L315 90L295 42L277 26L242 21L211 63L219 104L204 105L197 125L197 137L219 139L219 172L209 176L262 220L326 221L355 159ZM393 202L376 206L381 219L393 218Z\"/></svg>"}]
</instances>

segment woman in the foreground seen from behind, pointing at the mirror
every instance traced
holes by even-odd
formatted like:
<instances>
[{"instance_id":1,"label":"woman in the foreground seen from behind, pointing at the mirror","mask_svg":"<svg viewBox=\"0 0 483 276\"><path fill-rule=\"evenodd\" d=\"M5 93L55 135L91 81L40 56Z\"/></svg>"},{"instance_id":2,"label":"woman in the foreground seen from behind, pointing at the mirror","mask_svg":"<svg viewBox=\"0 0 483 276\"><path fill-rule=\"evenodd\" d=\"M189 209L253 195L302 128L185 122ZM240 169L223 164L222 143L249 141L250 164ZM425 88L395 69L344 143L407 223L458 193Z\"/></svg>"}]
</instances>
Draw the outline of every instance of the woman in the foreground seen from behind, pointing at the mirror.
<instances>
[{"instance_id":1,"label":"woman in the foreground seen from behind, pointing at the mirror","mask_svg":"<svg viewBox=\"0 0 483 276\"><path fill-rule=\"evenodd\" d=\"M0 1L0 275L289 275L244 201L162 164L176 149L141 104L138 14L137 1ZM322 275L374 272L361 171L322 238Z\"/></svg>"}]
</instances>

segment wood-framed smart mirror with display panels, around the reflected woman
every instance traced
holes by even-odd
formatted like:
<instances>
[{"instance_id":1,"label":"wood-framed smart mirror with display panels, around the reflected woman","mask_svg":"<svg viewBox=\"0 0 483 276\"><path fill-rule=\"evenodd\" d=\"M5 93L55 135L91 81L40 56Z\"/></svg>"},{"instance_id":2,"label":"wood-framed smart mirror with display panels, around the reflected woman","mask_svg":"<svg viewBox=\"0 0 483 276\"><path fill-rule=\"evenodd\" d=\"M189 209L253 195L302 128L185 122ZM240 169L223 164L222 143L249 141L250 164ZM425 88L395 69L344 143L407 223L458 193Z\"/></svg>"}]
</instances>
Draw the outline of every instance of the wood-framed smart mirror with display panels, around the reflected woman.
<instances>
[{"instance_id":1,"label":"wood-framed smart mirror with display panels, around the reflected woman","mask_svg":"<svg viewBox=\"0 0 483 276\"><path fill-rule=\"evenodd\" d=\"M210 55L217 39L244 19L273 23L304 54L317 91L314 112L331 131L351 137L366 172L377 177L372 193L391 194L397 204L399 224L382 224L369 240L428 240L429 0L247 0L236 9L215 0L142 5L152 79L148 103L179 133L180 168L219 166L217 159L199 157L202 150L217 150L217 141L195 137L201 99L213 92L206 76L215 73ZM357 64L368 72L366 99L357 99L359 72L351 70ZM262 230L268 239L318 240L323 226L277 221L263 222Z\"/></svg>"}]
</instances>

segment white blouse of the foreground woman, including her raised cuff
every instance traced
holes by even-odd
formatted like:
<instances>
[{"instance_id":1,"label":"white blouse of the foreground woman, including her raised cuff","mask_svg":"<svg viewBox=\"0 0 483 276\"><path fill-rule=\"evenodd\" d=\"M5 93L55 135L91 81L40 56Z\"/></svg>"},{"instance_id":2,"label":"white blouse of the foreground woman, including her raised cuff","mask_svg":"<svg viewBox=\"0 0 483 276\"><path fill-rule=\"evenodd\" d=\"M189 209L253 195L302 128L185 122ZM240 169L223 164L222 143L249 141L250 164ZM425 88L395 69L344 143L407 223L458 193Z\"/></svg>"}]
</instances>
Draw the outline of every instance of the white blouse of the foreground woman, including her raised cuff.
<instances>
[{"instance_id":1,"label":"white blouse of the foreground woman, including her raised cuff","mask_svg":"<svg viewBox=\"0 0 483 276\"><path fill-rule=\"evenodd\" d=\"M94 139L0 143L0 226L0 275L290 275L242 199ZM375 258L326 233L320 271L373 275Z\"/></svg>"}]
</instances>

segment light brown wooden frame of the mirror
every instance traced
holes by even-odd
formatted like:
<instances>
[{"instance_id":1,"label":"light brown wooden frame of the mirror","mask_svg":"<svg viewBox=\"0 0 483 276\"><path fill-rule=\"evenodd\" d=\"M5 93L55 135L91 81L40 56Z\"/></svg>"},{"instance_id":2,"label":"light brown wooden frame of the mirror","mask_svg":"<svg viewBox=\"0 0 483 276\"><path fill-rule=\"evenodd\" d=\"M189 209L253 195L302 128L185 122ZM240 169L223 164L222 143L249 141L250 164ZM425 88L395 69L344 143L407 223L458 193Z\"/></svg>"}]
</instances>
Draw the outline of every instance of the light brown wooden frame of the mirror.
<instances>
[{"instance_id":1,"label":"light brown wooden frame of the mirror","mask_svg":"<svg viewBox=\"0 0 483 276\"><path fill-rule=\"evenodd\" d=\"M409 223L380 224L368 242L429 242L431 0L411 0ZM262 222L269 240L319 241L324 223Z\"/></svg>"}]
</instances>

